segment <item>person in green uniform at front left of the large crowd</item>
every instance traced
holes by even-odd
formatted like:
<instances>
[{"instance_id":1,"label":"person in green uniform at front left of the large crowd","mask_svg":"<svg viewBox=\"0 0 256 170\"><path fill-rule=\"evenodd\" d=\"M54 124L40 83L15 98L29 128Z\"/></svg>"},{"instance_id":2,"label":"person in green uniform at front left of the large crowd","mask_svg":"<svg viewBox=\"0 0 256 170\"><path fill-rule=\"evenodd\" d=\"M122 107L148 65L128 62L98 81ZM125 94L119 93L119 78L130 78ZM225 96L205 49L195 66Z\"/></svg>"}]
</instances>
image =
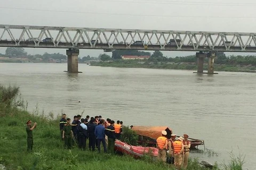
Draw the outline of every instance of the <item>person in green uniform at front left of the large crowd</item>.
<instances>
[{"instance_id":1,"label":"person in green uniform at front left of the large crowd","mask_svg":"<svg viewBox=\"0 0 256 170\"><path fill-rule=\"evenodd\" d=\"M70 118L67 118L67 123L63 127L63 132L62 132L62 138L65 141L65 148L66 149L71 149L72 146L72 139L74 138L74 134L72 131L72 126L70 124Z\"/></svg>"}]
</instances>

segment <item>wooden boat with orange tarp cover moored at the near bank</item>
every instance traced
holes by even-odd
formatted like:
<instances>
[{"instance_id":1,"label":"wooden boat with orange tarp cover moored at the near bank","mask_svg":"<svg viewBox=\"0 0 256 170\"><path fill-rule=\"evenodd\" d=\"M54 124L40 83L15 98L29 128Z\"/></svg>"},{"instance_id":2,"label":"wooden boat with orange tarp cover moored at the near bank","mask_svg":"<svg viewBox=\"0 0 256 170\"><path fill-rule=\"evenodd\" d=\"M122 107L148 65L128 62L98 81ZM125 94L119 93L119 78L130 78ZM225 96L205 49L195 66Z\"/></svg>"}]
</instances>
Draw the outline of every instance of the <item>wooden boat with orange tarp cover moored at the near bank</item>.
<instances>
[{"instance_id":1,"label":"wooden boat with orange tarp cover moored at the near bank","mask_svg":"<svg viewBox=\"0 0 256 170\"><path fill-rule=\"evenodd\" d=\"M172 129L167 126L131 126L131 129L139 135L138 143L142 146L156 147L156 139L162 135L162 131L167 132L166 137L171 138ZM180 136L177 135L177 138ZM188 138L191 142L191 149L204 145L204 140Z\"/></svg>"}]
</instances>

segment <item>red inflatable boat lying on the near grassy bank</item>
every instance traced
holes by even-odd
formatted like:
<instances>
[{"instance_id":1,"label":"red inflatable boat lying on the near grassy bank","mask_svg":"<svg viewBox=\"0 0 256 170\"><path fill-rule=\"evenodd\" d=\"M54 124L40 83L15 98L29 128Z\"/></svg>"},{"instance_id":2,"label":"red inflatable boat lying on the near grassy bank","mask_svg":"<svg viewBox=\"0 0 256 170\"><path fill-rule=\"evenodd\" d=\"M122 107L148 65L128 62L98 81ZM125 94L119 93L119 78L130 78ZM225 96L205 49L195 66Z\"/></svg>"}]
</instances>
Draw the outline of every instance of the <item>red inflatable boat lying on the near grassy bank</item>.
<instances>
[{"instance_id":1,"label":"red inflatable boat lying on the near grassy bank","mask_svg":"<svg viewBox=\"0 0 256 170\"><path fill-rule=\"evenodd\" d=\"M115 151L122 152L123 154L131 155L134 158L139 158L145 154L157 157L158 149L153 147L132 146L119 140L115 141Z\"/></svg>"}]
</instances>

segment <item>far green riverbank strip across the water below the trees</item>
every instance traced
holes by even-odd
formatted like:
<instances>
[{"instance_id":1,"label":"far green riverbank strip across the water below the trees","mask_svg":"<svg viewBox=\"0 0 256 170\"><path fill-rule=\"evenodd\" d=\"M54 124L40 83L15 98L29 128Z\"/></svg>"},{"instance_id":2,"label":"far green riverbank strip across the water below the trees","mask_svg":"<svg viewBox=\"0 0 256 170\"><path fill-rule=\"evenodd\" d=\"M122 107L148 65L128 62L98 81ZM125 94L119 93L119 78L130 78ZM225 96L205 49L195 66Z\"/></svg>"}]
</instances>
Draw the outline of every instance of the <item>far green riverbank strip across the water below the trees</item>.
<instances>
[{"instance_id":1,"label":"far green riverbank strip across the water below the trees","mask_svg":"<svg viewBox=\"0 0 256 170\"><path fill-rule=\"evenodd\" d=\"M148 62L138 60L117 60L113 62L91 62L92 66L105 67L136 67L149 69L179 69L179 70L197 70L196 63L174 63L174 62ZM204 64L204 70L207 70L207 63ZM252 65L226 65L214 64L214 71L231 72L256 72L256 67Z\"/></svg>"}]
</instances>

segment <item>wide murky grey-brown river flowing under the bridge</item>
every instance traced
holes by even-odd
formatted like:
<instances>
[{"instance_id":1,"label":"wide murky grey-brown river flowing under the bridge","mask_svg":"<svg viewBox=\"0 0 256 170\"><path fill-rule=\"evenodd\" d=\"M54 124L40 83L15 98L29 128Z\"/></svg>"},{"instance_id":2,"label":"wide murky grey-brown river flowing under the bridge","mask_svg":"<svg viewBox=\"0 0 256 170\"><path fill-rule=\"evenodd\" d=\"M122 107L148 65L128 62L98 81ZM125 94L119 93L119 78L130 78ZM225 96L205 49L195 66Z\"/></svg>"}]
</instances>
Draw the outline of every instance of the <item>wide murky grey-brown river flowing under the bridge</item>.
<instances>
[{"instance_id":1,"label":"wide murky grey-brown river flowing under the bridge","mask_svg":"<svg viewBox=\"0 0 256 170\"><path fill-rule=\"evenodd\" d=\"M0 63L0 83L19 86L31 112L166 125L179 135L205 140L206 150L193 151L192 157L222 163L231 152L240 153L245 155L244 168L254 169L255 73L197 75L86 64L79 64L83 73L65 70L67 64Z\"/></svg>"}]
</instances>

